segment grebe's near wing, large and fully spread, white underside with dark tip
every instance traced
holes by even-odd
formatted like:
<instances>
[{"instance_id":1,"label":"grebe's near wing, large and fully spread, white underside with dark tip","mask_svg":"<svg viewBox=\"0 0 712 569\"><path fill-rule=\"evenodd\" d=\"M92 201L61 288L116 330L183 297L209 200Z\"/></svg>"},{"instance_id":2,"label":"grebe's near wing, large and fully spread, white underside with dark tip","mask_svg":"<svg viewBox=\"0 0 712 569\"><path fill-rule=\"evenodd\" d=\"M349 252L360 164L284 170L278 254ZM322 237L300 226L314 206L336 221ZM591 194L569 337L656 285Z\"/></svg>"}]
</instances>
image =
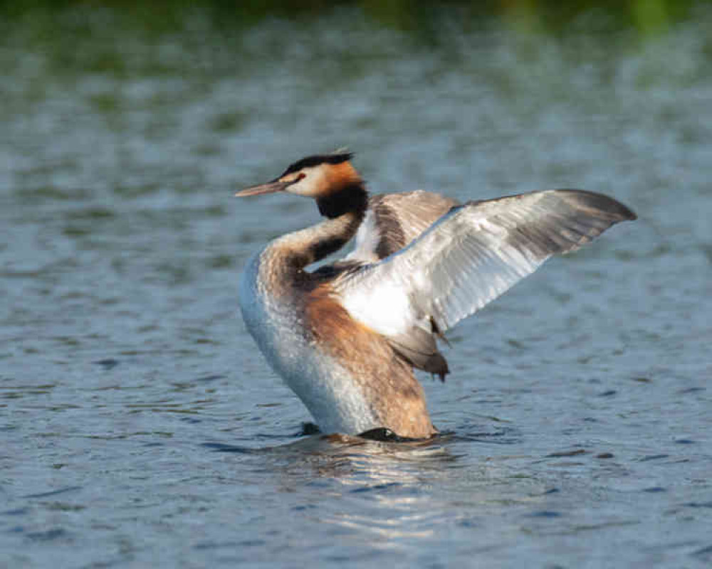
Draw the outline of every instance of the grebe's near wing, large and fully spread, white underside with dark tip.
<instances>
[{"instance_id":1,"label":"grebe's near wing, large and fully spread, white underside with dark tip","mask_svg":"<svg viewBox=\"0 0 712 569\"><path fill-rule=\"evenodd\" d=\"M452 208L406 248L334 282L352 317L411 361L434 337L481 309L555 253L635 219L618 201L548 190ZM414 363L417 367L417 363Z\"/></svg>"}]
</instances>

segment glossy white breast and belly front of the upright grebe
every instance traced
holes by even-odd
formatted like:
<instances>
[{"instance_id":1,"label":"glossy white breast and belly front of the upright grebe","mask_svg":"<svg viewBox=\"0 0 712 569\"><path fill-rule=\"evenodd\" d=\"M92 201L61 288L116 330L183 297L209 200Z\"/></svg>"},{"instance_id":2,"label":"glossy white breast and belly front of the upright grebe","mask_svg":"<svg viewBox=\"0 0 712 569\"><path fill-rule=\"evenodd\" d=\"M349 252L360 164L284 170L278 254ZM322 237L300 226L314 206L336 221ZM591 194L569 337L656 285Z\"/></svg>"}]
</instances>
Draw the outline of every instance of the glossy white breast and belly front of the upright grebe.
<instances>
[{"instance_id":1,"label":"glossy white breast and belly front of the upright grebe","mask_svg":"<svg viewBox=\"0 0 712 569\"><path fill-rule=\"evenodd\" d=\"M263 252L240 279L239 300L248 331L273 370L298 395L323 432L364 432L377 425L355 378L310 339L296 295L271 294Z\"/></svg>"}]
</instances>

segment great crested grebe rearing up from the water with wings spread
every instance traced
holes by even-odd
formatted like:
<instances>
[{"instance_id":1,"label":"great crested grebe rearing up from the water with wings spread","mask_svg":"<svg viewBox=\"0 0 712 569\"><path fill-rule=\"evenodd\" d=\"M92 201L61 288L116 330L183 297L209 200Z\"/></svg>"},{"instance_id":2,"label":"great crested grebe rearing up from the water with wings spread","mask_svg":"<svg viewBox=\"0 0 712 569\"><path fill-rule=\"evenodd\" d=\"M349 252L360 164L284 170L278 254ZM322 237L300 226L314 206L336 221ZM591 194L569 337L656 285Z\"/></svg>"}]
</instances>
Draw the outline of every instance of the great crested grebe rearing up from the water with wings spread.
<instances>
[{"instance_id":1,"label":"great crested grebe rearing up from the water with wings spread","mask_svg":"<svg viewBox=\"0 0 712 569\"><path fill-rule=\"evenodd\" d=\"M636 218L580 190L462 205L425 191L369 197L351 157L308 156L236 193L307 196L327 218L253 255L239 289L248 331L326 433L436 434L413 373L444 381L436 340L551 255ZM307 270L354 236L344 260Z\"/></svg>"}]
</instances>

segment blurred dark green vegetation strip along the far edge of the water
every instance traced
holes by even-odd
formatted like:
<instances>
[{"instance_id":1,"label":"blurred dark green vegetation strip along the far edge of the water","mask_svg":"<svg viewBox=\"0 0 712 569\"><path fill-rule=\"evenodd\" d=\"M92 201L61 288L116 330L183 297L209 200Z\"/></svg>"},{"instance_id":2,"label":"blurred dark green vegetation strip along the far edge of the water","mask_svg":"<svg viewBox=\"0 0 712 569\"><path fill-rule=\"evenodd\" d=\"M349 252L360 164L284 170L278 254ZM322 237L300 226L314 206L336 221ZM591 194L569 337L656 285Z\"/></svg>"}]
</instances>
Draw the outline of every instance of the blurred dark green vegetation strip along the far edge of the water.
<instances>
[{"instance_id":1,"label":"blurred dark green vegetation strip along the far edge of the water","mask_svg":"<svg viewBox=\"0 0 712 569\"><path fill-rule=\"evenodd\" d=\"M676 21L694 15L693 0L450 0L432 3L425 0L331 1L290 0L226 1L199 4L187 0L33 0L0 2L0 15L10 25L36 26L44 33L59 28L82 31L79 12L103 12L104 17L120 18L145 31L164 33L189 26L197 14L211 26L238 29L266 18L316 18L333 10L356 9L375 23L427 36L446 34L439 28L446 14L457 14L462 26L478 26L486 18L512 21L523 30L559 33L569 26L580 26L590 14L603 16L609 28L636 28L642 33L659 31ZM88 28L84 28L88 31ZM42 32L40 32L42 33Z\"/></svg>"}]
</instances>

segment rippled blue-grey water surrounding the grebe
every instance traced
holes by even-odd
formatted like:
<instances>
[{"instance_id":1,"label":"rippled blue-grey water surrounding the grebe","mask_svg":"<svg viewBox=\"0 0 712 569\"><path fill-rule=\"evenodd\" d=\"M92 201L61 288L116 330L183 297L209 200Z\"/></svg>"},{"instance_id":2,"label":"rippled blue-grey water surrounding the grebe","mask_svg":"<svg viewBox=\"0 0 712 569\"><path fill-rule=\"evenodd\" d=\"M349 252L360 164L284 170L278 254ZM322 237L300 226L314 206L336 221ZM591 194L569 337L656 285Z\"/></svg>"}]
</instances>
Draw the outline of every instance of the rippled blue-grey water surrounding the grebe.
<instances>
[{"instance_id":1,"label":"rippled blue-grey water surrounding the grebe","mask_svg":"<svg viewBox=\"0 0 712 569\"><path fill-rule=\"evenodd\" d=\"M1 567L712 563L708 5L436 38L56 18L0 23ZM298 436L239 317L248 255L318 213L232 194L343 146L375 192L639 215L450 334L430 444Z\"/></svg>"}]
</instances>

